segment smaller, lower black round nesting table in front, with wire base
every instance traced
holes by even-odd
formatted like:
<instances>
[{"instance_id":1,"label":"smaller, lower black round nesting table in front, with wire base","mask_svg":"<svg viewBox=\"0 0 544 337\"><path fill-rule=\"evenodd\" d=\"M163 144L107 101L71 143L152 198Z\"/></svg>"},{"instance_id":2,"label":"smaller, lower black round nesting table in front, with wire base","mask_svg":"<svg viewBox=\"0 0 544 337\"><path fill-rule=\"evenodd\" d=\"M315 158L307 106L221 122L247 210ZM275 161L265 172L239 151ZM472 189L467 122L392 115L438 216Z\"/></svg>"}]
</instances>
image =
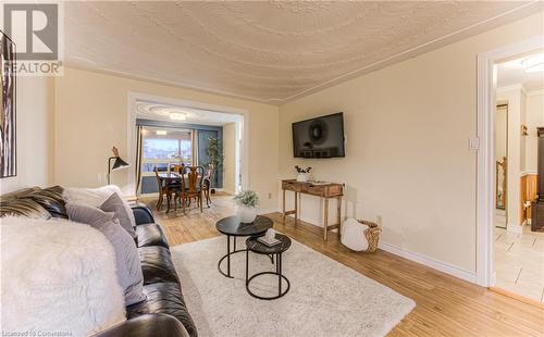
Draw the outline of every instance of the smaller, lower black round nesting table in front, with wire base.
<instances>
[{"instance_id":1,"label":"smaller, lower black round nesting table in front, with wire base","mask_svg":"<svg viewBox=\"0 0 544 337\"><path fill-rule=\"evenodd\" d=\"M290 247L290 239L282 234L276 234L275 238L281 241L281 244L277 244L275 246L269 247L264 244L259 242L256 237L250 237L246 240L246 246L247 246L247 251L246 251L246 290L249 295L251 295L255 298L261 299L261 300L275 300L284 296L289 291L290 288L290 283L282 274L282 253L289 249ZM275 272L262 272L262 273L257 273L249 277L249 251L252 251L258 254L263 254L263 255L274 255L275 254ZM249 283L251 279L256 278L259 275L277 275L277 296L272 296L272 297L263 297L256 295L249 290ZM285 291L282 291L282 278L285 279L287 283L287 289Z\"/></svg>"}]
</instances>

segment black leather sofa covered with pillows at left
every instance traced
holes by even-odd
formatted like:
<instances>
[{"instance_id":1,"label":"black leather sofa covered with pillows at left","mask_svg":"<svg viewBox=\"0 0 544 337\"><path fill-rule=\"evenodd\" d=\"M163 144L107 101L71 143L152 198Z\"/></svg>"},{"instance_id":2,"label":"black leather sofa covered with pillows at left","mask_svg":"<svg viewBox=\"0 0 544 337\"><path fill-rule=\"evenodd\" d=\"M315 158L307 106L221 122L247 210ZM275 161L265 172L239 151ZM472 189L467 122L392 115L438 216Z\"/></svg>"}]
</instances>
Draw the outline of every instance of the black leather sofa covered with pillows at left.
<instances>
[{"instance_id":1,"label":"black leather sofa covered with pillows at left","mask_svg":"<svg viewBox=\"0 0 544 337\"><path fill-rule=\"evenodd\" d=\"M133 212L147 300L127 307L127 321L98 336L196 337L197 329L185 305L161 226L154 223L146 205L134 204ZM62 187L35 187L4 195L0 198L0 216L7 214L67 219Z\"/></svg>"}]
</instances>

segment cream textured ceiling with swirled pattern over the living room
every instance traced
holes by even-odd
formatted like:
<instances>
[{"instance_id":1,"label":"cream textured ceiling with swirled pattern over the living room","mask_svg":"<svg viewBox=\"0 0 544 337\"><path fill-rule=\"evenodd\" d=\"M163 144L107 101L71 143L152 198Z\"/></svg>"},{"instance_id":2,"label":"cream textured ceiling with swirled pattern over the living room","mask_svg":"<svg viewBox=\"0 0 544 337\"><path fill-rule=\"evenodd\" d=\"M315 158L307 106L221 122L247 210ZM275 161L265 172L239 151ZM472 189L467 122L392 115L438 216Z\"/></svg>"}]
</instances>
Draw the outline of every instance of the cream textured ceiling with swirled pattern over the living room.
<instances>
[{"instance_id":1,"label":"cream textured ceiling with swirled pattern over the living room","mask_svg":"<svg viewBox=\"0 0 544 337\"><path fill-rule=\"evenodd\" d=\"M66 2L65 58L280 104L527 15L528 3Z\"/></svg>"}]
</instances>

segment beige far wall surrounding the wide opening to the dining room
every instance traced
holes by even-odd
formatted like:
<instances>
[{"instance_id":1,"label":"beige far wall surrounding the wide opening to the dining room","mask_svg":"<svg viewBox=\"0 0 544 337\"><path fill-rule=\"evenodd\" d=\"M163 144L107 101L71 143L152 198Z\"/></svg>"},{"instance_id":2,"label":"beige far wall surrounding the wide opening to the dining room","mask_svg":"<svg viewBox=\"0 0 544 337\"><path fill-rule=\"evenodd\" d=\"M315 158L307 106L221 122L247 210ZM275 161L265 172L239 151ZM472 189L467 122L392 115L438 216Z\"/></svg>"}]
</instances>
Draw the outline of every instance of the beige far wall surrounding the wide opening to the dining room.
<instances>
[{"instance_id":1,"label":"beige far wall surrounding the wide opening to the dining room","mask_svg":"<svg viewBox=\"0 0 544 337\"><path fill-rule=\"evenodd\" d=\"M110 149L127 158L128 92L191 100L245 110L249 121L249 188L262 208L275 208L277 198L279 109L273 105L183 89L102 73L66 68L55 80L54 177L64 186L104 184ZM134 167L129 168L134 170ZM124 187L127 173L112 175ZM272 198L268 198L268 194Z\"/></svg>"}]
</instances>

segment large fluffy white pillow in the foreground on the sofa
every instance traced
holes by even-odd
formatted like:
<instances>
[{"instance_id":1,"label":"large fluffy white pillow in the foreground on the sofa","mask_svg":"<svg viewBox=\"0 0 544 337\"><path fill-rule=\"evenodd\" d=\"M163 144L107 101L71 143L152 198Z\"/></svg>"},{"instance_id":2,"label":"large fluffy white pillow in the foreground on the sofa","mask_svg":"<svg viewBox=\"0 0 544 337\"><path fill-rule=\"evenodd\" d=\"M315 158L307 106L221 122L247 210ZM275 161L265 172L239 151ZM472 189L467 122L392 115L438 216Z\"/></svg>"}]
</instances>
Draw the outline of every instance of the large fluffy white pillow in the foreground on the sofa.
<instances>
[{"instance_id":1,"label":"large fluffy white pillow in the foreground on the sofa","mask_svg":"<svg viewBox=\"0 0 544 337\"><path fill-rule=\"evenodd\" d=\"M100 232L13 216L0 230L3 332L89 336L126 320L114 251Z\"/></svg>"}]
</instances>

